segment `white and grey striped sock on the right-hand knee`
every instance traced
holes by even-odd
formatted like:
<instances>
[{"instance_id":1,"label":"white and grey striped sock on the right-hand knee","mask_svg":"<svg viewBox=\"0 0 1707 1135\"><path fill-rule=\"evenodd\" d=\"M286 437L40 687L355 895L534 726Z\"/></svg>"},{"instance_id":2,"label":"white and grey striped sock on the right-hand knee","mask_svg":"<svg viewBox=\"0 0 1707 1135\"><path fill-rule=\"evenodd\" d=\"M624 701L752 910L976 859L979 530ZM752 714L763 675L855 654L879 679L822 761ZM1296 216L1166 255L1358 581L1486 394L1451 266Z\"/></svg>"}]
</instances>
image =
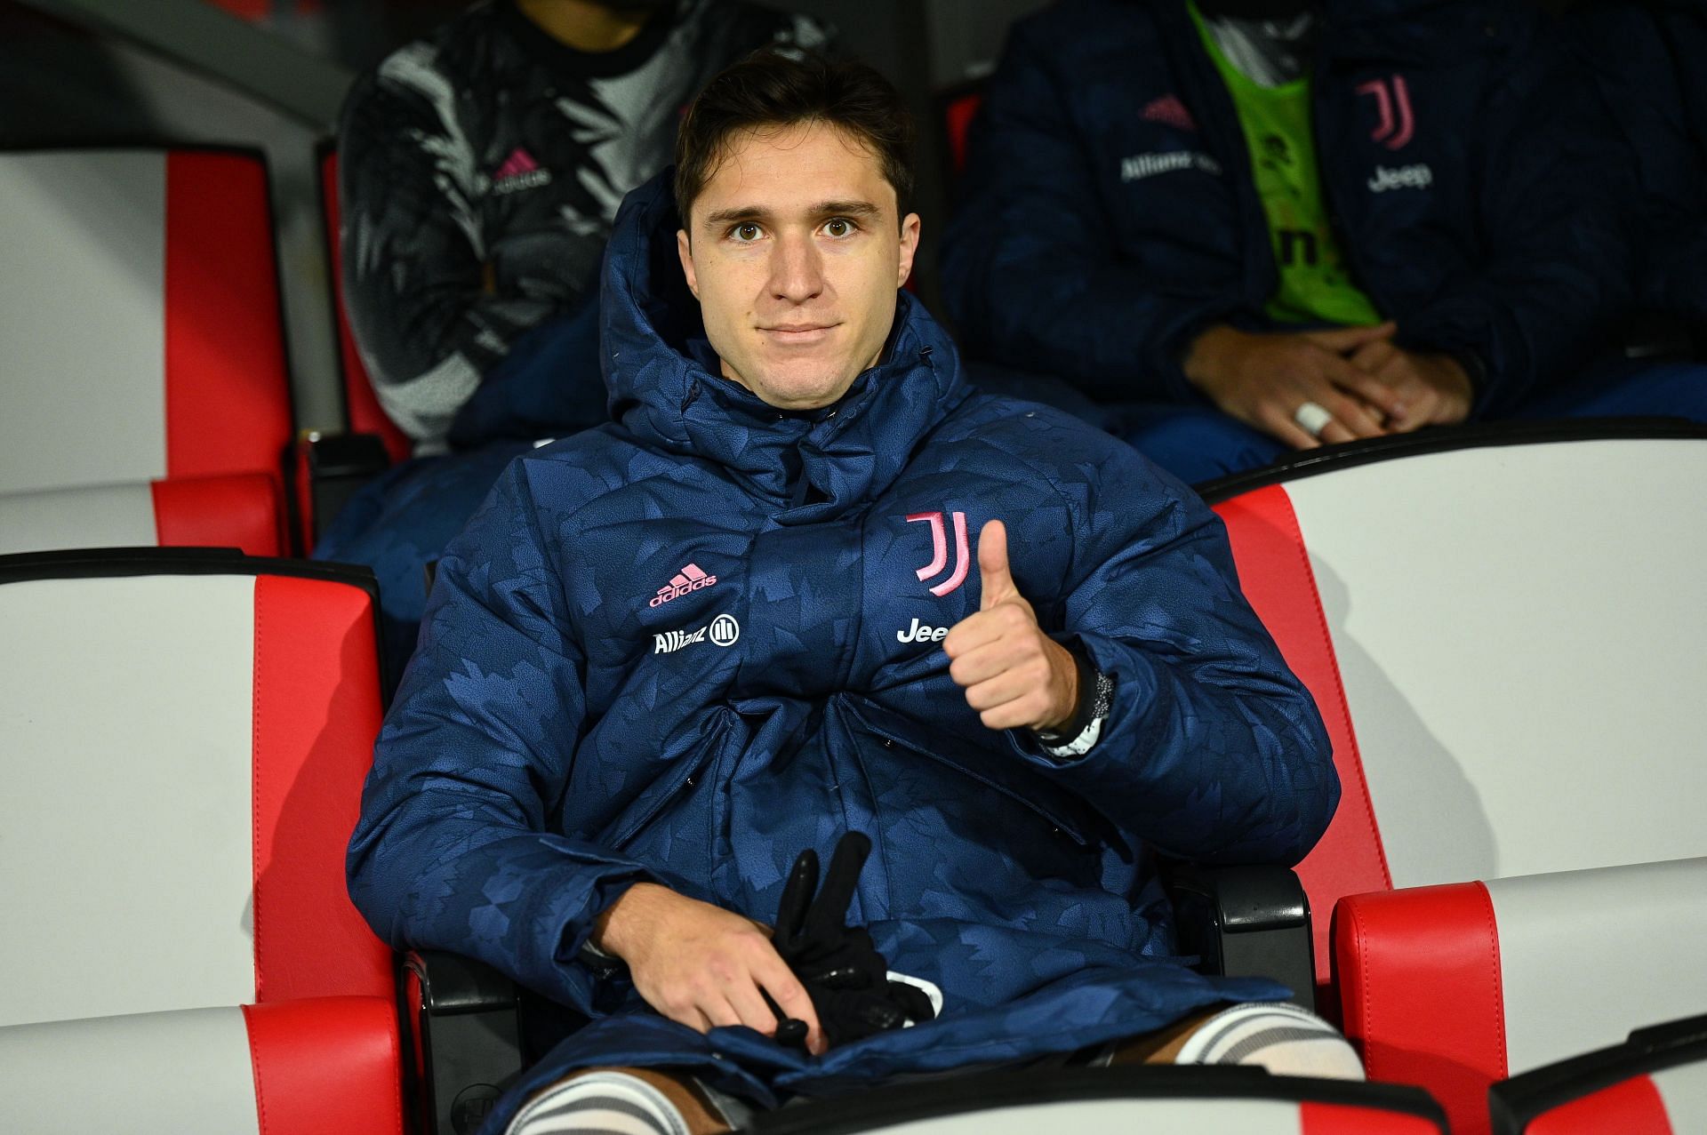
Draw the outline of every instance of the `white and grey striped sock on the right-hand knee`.
<instances>
[{"instance_id":1,"label":"white and grey striped sock on the right-hand knee","mask_svg":"<svg viewBox=\"0 0 1707 1135\"><path fill-rule=\"evenodd\" d=\"M1338 1029L1285 1002L1222 1009L1186 1038L1174 1063L1246 1063L1273 1075L1364 1079L1357 1050Z\"/></svg>"}]
</instances>

